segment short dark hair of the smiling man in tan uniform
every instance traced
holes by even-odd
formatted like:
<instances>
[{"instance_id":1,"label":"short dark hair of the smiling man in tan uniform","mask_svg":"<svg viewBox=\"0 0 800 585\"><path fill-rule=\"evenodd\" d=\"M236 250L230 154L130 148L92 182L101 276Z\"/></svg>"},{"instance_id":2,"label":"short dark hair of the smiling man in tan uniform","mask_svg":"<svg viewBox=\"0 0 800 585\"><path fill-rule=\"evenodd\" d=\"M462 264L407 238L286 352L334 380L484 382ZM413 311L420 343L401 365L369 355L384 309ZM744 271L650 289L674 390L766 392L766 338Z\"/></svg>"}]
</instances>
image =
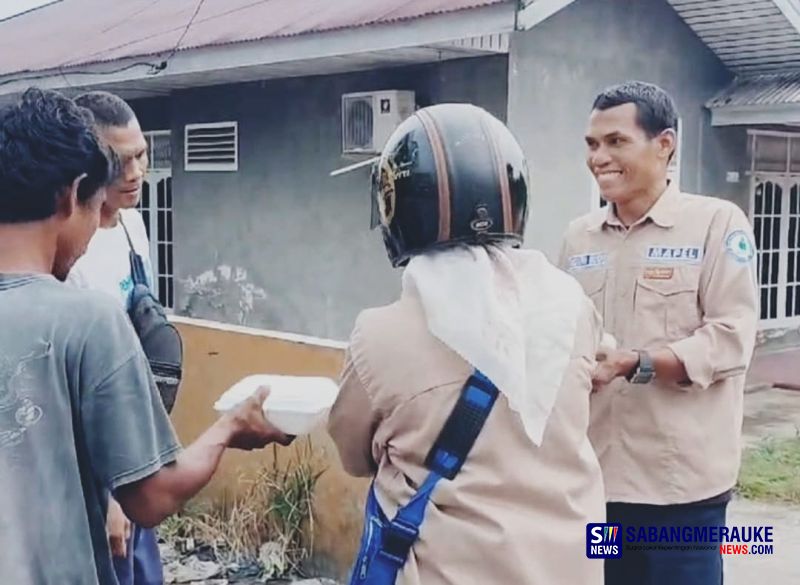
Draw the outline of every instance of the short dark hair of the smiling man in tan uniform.
<instances>
[{"instance_id":1,"label":"short dark hair of the smiling man in tan uniform","mask_svg":"<svg viewBox=\"0 0 800 585\"><path fill-rule=\"evenodd\" d=\"M603 111L624 104L636 106L636 121L650 138L668 128L678 131L675 102L666 91L652 83L626 81L606 88L595 98L592 109Z\"/></svg>"}]
</instances>

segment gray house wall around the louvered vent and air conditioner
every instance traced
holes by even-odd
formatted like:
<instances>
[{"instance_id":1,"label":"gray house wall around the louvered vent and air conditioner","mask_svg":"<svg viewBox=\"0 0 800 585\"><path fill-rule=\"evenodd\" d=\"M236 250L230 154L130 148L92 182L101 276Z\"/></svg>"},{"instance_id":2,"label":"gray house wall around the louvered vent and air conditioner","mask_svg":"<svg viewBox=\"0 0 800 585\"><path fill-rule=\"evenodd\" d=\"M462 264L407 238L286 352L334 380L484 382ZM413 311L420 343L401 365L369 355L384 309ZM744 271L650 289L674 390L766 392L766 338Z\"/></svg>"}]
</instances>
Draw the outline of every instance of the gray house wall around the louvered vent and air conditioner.
<instances>
[{"instance_id":1,"label":"gray house wall around the louvered vent and air conditioner","mask_svg":"<svg viewBox=\"0 0 800 585\"><path fill-rule=\"evenodd\" d=\"M505 119L506 56L173 94L176 312L335 339L391 302L400 274L370 232L369 170L341 155L341 96L410 89ZM150 106L150 121L158 121ZM239 171L183 171L183 129L239 122ZM362 157L363 158L363 157Z\"/></svg>"}]
</instances>

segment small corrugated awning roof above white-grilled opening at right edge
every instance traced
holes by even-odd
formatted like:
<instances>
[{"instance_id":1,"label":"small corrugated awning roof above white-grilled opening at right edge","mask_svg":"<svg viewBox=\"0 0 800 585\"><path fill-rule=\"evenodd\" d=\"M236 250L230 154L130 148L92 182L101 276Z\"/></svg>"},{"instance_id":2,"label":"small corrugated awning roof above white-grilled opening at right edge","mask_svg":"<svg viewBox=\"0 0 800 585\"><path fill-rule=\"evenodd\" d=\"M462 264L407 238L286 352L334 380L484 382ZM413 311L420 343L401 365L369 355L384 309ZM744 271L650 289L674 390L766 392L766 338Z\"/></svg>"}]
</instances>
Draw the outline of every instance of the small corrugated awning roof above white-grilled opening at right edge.
<instances>
[{"instance_id":1,"label":"small corrugated awning roof above white-grilled opening at right edge","mask_svg":"<svg viewBox=\"0 0 800 585\"><path fill-rule=\"evenodd\" d=\"M739 77L709 100L709 108L800 104L800 73Z\"/></svg>"}]
</instances>

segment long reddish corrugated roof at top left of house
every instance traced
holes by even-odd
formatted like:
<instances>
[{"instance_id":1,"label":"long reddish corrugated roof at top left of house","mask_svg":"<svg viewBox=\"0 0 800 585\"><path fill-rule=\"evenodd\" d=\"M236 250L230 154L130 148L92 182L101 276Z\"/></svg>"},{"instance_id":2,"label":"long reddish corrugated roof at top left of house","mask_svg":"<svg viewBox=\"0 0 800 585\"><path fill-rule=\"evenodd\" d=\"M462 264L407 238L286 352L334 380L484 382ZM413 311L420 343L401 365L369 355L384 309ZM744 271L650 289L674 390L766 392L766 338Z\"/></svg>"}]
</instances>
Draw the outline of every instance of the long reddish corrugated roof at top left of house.
<instances>
[{"instance_id":1,"label":"long reddish corrugated roof at top left of house","mask_svg":"<svg viewBox=\"0 0 800 585\"><path fill-rule=\"evenodd\" d=\"M0 76L401 23L509 1L60 0L0 21Z\"/></svg>"}]
</instances>

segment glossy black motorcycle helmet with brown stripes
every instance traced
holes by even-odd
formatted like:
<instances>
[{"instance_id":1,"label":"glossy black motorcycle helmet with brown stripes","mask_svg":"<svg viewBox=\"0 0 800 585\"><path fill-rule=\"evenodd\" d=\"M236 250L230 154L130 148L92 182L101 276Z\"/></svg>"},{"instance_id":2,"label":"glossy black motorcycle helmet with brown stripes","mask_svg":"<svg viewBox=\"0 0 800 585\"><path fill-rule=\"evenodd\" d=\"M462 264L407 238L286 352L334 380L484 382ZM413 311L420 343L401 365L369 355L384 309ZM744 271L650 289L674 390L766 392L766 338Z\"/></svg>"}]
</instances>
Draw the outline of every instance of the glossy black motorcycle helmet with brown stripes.
<instances>
[{"instance_id":1,"label":"glossy black motorcycle helmet with brown stripes","mask_svg":"<svg viewBox=\"0 0 800 585\"><path fill-rule=\"evenodd\" d=\"M392 266L456 242L519 245L528 185L522 148L497 118L469 104L423 108L373 168L373 228L381 226Z\"/></svg>"}]
</instances>

